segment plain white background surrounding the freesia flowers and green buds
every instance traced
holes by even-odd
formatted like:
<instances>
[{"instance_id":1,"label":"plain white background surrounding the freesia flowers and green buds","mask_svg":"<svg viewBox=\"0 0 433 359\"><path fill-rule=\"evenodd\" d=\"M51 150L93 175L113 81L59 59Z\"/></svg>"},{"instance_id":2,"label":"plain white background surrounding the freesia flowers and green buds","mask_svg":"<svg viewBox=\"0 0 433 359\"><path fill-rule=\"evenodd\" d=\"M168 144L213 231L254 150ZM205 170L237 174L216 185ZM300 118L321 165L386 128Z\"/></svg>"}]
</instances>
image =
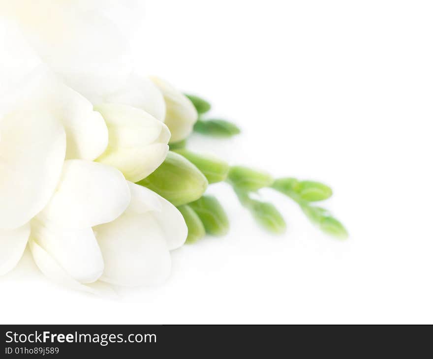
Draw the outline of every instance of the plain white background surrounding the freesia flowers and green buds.
<instances>
[{"instance_id":1,"label":"plain white background surrounding the freesia flowers and green buds","mask_svg":"<svg viewBox=\"0 0 433 359\"><path fill-rule=\"evenodd\" d=\"M24 259L0 279L1 323L432 323L432 17L414 0L147 1L142 70L243 129L190 148L329 183L350 239L263 191L288 224L268 235L212 185L230 234L175 251L164 286L100 299Z\"/></svg>"}]
</instances>

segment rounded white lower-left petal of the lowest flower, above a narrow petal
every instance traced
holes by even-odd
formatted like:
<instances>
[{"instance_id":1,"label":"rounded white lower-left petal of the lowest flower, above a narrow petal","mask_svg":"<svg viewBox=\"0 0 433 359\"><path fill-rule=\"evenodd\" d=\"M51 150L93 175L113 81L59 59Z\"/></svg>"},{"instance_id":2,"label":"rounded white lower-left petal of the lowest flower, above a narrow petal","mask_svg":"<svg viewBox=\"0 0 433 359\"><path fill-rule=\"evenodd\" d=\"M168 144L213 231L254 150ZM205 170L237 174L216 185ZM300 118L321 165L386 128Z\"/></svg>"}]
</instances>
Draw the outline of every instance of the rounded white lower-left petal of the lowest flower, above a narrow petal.
<instances>
[{"instance_id":1,"label":"rounded white lower-left petal of the lowest flower, above a narrow petal","mask_svg":"<svg viewBox=\"0 0 433 359\"><path fill-rule=\"evenodd\" d=\"M31 221L31 239L80 283L93 283L104 270L92 228L67 230L36 217Z\"/></svg>"}]
</instances>

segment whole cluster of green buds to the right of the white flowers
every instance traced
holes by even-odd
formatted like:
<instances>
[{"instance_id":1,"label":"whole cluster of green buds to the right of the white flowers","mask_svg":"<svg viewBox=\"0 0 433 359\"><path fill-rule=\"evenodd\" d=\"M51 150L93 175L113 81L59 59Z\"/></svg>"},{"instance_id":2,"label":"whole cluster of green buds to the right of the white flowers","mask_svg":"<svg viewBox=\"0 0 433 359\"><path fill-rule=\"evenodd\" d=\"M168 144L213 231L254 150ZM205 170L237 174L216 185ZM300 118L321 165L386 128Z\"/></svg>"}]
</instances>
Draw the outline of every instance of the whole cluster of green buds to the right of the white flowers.
<instances>
[{"instance_id":1,"label":"whole cluster of green buds to the right of the white flowers","mask_svg":"<svg viewBox=\"0 0 433 359\"><path fill-rule=\"evenodd\" d=\"M230 121L205 118L211 109L208 101L198 96L186 96L199 114L194 132L214 137L230 137L240 133L239 127ZM271 233L283 233L286 223L272 203L257 199L256 193L262 188L274 189L295 201L324 233L340 239L347 238L347 231L340 221L326 209L314 205L332 196L329 186L294 178L274 179L263 171L230 166L219 158L187 150L186 140L170 144L170 151L162 165L138 184L152 189L180 210L188 227L186 242L193 243L206 234L222 236L228 232L229 219L222 205L216 197L205 194L207 187L216 182L230 185L242 206Z\"/></svg>"}]
</instances>

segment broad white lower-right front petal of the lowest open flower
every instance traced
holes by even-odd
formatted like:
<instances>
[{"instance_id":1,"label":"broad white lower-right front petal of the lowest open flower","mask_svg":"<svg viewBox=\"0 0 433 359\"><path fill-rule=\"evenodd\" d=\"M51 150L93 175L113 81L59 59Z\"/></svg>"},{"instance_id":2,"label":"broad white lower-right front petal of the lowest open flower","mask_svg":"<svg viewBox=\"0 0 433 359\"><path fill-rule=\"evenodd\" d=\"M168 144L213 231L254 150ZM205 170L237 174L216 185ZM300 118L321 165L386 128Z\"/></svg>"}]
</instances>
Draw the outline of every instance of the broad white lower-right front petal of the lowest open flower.
<instances>
[{"instance_id":1,"label":"broad white lower-right front petal of the lowest open flower","mask_svg":"<svg viewBox=\"0 0 433 359\"><path fill-rule=\"evenodd\" d=\"M149 210L148 203L158 196L152 191L129 182L131 206L118 219L93 230L104 258L101 280L123 286L159 284L170 274L171 259L166 228L172 226L172 213L162 221L165 206ZM153 200L149 201L150 198ZM143 202L142 202L143 201ZM160 202L160 201L159 201ZM143 209L140 209L142 203ZM160 202L161 205L161 202ZM161 213L156 217L155 213ZM185 221L184 226L186 227ZM178 228L178 225L175 225ZM186 239L186 230L180 230Z\"/></svg>"}]
</instances>

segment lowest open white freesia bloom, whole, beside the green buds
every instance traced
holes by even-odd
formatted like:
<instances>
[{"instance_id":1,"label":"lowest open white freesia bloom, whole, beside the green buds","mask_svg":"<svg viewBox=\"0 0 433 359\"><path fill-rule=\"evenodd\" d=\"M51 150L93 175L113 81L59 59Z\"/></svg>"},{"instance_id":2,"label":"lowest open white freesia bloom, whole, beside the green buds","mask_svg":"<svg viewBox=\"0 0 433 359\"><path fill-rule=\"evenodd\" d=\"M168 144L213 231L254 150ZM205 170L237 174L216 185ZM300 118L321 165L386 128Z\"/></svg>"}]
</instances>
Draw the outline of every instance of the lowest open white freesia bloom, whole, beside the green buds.
<instances>
[{"instance_id":1,"label":"lowest open white freesia bloom, whole, beside the green buds","mask_svg":"<svg viewBox=\"0 0 433 359\"><path fill-rule=\"evenodd\" d=\"M116 191L115 176L104 173L110 169L114 175L111 167L77 160L66 161L65 167L67 183L31 221L30 248L41 271L60 284L92 293L106 291L101 282L162 283L170 274L169 251L182 246L187 236L178 209L131 182L122 185L127 194ZM101 185L106 180L111 185ZM118 198L113 198L116 192ZM120 206L113 203L126 204L126 210L118 216Z\"/></svg>"}]
</instances>

